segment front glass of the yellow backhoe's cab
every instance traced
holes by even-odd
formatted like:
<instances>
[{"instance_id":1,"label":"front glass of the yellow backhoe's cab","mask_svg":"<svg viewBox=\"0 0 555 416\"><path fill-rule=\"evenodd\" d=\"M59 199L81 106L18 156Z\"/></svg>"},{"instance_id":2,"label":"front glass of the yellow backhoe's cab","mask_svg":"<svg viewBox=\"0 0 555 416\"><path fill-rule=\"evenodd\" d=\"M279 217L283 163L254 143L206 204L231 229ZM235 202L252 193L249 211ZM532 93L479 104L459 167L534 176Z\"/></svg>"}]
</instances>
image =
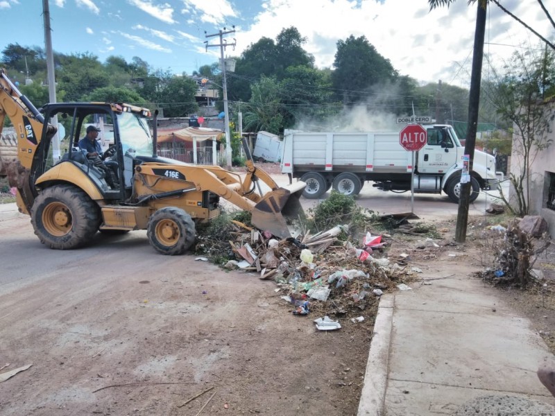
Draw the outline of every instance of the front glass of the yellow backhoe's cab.
<instances>
[{"instance_id":1,"label":"front glass of the yellow backhoe's cab","mask_svg":"<svg viewBox=\"0 0 555 416\"><path fill-rule=\"evenodd\" d=\"M119 126L119 137L123 153L127 150L135 150L136 155L152 155L152 136L151 130L144 117L130 112L117 114Z\"/></svg>"}]
</instances>

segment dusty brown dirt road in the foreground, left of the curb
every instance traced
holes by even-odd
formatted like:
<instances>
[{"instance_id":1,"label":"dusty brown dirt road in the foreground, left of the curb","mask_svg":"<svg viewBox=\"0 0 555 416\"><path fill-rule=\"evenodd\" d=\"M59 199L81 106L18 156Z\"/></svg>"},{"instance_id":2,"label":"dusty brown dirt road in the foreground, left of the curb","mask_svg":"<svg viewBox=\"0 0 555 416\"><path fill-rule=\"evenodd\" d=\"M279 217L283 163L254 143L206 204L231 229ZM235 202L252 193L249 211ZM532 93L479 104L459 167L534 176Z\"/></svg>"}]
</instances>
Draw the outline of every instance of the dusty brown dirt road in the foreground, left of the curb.
<instances>
[{"instance_id":1,"label":"dusty brown dirt road in the foreground, left of the curb","mask_svg":"<svg viewBox=\"0 0 555 416\"><path fill-rule=\"evenodd\" d=\"M0 384L0 414L196 415L212 394L203 415L357 413L372 317L318 332L272 281L144 232L54 251L1 218L0 367L32 367Z\"/></svg>"}]
</instances>

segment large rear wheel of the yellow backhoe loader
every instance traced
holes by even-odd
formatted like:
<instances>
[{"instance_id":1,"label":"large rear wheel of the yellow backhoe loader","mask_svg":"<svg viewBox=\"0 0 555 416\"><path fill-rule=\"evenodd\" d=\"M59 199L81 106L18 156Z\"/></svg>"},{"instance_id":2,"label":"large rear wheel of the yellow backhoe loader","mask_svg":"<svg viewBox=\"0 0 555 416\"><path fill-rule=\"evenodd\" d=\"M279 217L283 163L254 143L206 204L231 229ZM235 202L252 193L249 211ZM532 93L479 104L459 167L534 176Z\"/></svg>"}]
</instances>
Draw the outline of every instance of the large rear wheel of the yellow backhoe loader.
<instances>
[{"instance_id":1,"label":"large rear wheel of the yellow backhoe loader","mask_svg":"<svg viewBox=\"0 0 555 416\"><path fill-rule=\"evenodd\" d=\"M40 242L69 250L92 239L100 225L96 202L71 185L55 185L38 194L31 208L31 224Z\"/></svg>"}]
</instances>

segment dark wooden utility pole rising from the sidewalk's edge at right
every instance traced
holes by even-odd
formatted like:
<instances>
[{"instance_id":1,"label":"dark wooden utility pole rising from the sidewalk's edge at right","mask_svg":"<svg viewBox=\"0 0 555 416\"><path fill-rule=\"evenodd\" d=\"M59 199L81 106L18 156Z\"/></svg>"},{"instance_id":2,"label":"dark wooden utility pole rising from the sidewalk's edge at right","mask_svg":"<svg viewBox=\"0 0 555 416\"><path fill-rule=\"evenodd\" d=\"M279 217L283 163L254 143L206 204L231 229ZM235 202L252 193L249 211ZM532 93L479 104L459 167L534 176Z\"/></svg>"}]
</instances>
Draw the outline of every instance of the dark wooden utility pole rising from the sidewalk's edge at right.
<instances>
[{"instance_id":1,"label":"dark wooden utility pole rising from the sidewalk's edge at right","mask_svg":"<svg viewBox=\"0 0 555 416\"><path fill-rule=\"evenodd\" d=\"M472 173L474 162L474 146L478 128L478 106L480 103L481 64L484 60L484 37L486 34L487 1L477 1L476 29L474 34L474 53L472 55L472 74L470 76L470 93L468 99L468 128L466 129L466 143L464 154L469 155L468 173ZM470 180L472 181L472 179ZM455 241L466 241L466 227L468 225L468 205L470 205L470 189L472 182L461 183L459 196L459 211L456 216Z\"/></svg>"}]
</instances>

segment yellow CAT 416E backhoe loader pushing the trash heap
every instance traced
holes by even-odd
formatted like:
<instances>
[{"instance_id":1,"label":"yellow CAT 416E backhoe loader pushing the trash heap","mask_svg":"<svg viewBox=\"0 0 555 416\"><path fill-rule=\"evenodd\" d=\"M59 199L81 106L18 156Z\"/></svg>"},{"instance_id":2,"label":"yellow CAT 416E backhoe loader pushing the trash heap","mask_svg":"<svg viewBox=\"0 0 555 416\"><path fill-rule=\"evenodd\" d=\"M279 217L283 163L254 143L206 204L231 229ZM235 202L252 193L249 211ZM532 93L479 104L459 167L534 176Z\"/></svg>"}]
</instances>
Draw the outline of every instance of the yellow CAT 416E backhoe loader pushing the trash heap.
<instances>
[{"instance_id":1,"label":"yellow CAT 416E backhoe loader pushing the trash heap","mask_svg":"<svg viewBox=\"0 0 555 416\"><path fill-rule=\"evenodd\" d=\"M278 187L247 154L246 175L220 166L195 166L160 157L145 108L123 103L51 103L39 111L0 69L0 132L6 115L17 135L18 160L8 168L17 187L19 211L31 216L35 234L49 248L86 245L97 231L124 233L146 229L162 254L182 254L195 239L195 223L219 216L220 198L250 211L252 223L287 238L284 217L301 210L304 182ZM53 158L54 116L71 121L69 147ZM112 189L106 172L78 148L85 126L102 119L113 130L114 144L105 165L119 187ZM68 124L67 122L65 123ZM154 123L154 126L156 123ZM262 192L259 181L269 188Z\"/></svg>"}]
</instances>

